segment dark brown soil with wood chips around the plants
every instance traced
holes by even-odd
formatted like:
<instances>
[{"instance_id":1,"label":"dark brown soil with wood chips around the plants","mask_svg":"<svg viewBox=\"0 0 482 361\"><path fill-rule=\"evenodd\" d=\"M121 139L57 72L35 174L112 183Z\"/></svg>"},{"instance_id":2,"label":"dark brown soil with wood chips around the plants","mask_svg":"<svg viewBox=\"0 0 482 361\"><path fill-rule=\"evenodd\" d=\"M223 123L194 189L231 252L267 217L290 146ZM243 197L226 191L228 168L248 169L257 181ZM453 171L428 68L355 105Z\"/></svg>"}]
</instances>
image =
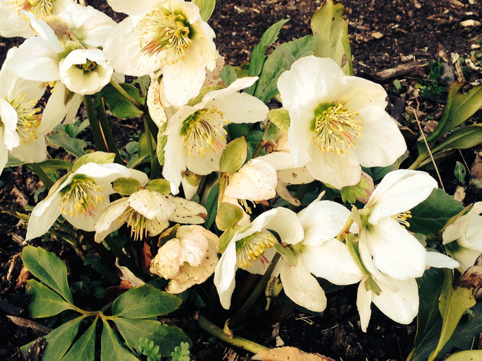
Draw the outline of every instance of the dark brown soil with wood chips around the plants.
<instances>
[{"instance_id":1,"label":"dark brown soil with wood chips around the plants","mask_svg":"<svg viewBox=\"0 0 482 361\"><path fill-rule=\"evenodd\" d=\"M90 4L114 16L105 1L91 0ZM481 39L481 26L463 27L462 21L482 18L482 3L477 0L342 0L348 9L349 34L353 53L355 74L365 78L376 78L375 73L391 69L409 61L429 61L445 51L450 57L452 52L462 57L470 57L471 46ZM219 52L226 62L239 66L249 61L249 55L269 25L282 18L290 21L281 30L278 42L286 42L310 34L310 18L322 3L320 0L218 0L216 10L210 20L216 32ZM0 38L0 61L4 61L6 50L19 45L19 38ZM273 47L270 48L270 50ZM394 90L393 79L382 83L389 93L392 116L406 126L409 117L405 113L412 107L419 110L423 124L428 116L440 119L445 90L433 97L411 97L411 89L425 77L428 69L399 78L404 96ZM468 81L482 78L480 71L469 71ZM399 105L401 107L393 106ZM413 117L412 117L413 118ZM474 121L480 122L481 114ZM137 129L139 124L127 125L116 122L117 140L127 142L126 135ZM425 129L426 130L426 129ZM414 124L406 126L405 135L410 145L418 137L419 131ZM454 179L453 169L456 160L466 162L470 167L479 149L454 153L452 158L442 162L442 179L449 194L460 185ZM2 191L0 208L2 211L23 211L25 204L33 205L33 196L39 188L37 178L26 167L4 170L1 175ZM466 203L482 199L480 191L467 187ZM17 225L13 216L0 213L0 302L20 307L16 312L22 316L22 309L28 304L22 288L15 289L20 273L21 262L16 256L24 245L25 230ZM40 242L39 242L40 244ZM65 244L56 242L42 243L42 247L54 250L62 259L69 260L71 278L76 271L83 269L74 251ZM82 271L81 271L82 270ZM206 291L208 293L208 291ZM413 345L415 326L395 324L373 308L368 333L360 331L358 313L355 307L356 288L344 288L328 295L328 308L321 316L310 316L295 310L285 321L275 328L278 336L286 345L292 345L307 352L317 352L335 360L405 360ZM15 310L0 303L0 309L8 314ZM248 353L233 350L219 341L210 338L196 327L193 315L186 317L177 314L180 326L194 342L194 360L247 360ZM261 320L262 321L262 320ZM255 329L240 331L240 336L274 346L273 326L263 324L254 318ZM0 316L0 359L20 360L18 347L32 341L37 335L30 329L15 326L5 316ZM275 335L276 336L276 335Z\"/></svg>"}]
</instances>

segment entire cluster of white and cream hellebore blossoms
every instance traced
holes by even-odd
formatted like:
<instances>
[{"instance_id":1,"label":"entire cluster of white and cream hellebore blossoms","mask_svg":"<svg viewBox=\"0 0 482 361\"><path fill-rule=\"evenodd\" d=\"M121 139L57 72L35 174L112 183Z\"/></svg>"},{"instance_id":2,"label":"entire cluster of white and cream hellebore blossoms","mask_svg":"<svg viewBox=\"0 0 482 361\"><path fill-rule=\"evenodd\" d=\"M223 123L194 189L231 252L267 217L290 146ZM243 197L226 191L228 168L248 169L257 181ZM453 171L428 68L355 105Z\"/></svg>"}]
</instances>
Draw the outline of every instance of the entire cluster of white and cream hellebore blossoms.
<instances>
[{"instance_id":1,"label":"entire cluster of white and cream hellebore blossoms","mask_svg":"<svg viewBox=\"0 0 482 361\"><path fill-rule=\"evenodd\" d=\"M317 278L335 285L359 283L356 304L363 331L372 302L391 319L410 323L418 312L416 278L430 266L462 265L464 270L482 251L482 203L443 233L455 260L428 251L408 231L411 208L437 187L425 172L389 172L359 210L322 200L323 193L298 213L284 207L285 201L302 204L288 184L353 187L370 178L362 167L387 167L407 150L385 111L382 86L346 76L336 61L302 57L279 76L288 131L261 156L245 150L239 167L227 172L221 161L230 156L226 150L233 141L228 125L263 129L269 108L242 92L256 76L202 89L218 52L214 32L194 3L108 0L114 11L128 15L117 24L75 1L0 1L0 34L27 37L8 52L0 71L0 169L8 154L24 162L45 160L45 135L62 120L74 119L82 96L108 83L115 86L124 75L148 75L146 103L156 114L162 182L170 189L153 186L147 174L124 165L88 162L61 177L35 206L27 240L45 235L58 219L95 232L96 242L124 225L134 241L159 236L150 271L170 280L167 291L183 292L214 273L226 309L238 268L264 274L273 262L271 276L280 278L286 295L313 312L327 307ZM19 32L8 32L16 22ZM44 107L39 100L48 87L52 94ZM201 178L211 184L198 189ZM125 179L138 186L116 194L114 183ZM229 203L240 214L222 236L218 232L220 238L204 227L216 205L208 212L203 192L216 183L218 205Z\"/></svg>"}]
</instances>

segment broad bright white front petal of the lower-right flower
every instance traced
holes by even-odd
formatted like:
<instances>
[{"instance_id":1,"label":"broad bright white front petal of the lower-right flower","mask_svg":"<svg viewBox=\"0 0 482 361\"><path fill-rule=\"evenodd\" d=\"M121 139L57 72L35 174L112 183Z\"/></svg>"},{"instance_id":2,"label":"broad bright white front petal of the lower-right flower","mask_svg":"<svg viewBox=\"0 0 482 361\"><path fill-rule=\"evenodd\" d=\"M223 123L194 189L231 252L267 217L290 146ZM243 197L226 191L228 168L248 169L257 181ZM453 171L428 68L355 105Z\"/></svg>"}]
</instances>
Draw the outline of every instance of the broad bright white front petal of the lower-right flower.
<instances>
[{"instance_id":1,"label":"broad bright white front petal of the lower-right flower","mask_svg":"<svg viewBox=\"0 0 482 361\"><path fill-rule=\"evenodd\" d=\"M377 225L363 230L360 237L375 266L383 273L406 280L421 277L425 272L425 247L396 220L382 218Z\"/></svg>"}]
</instances>

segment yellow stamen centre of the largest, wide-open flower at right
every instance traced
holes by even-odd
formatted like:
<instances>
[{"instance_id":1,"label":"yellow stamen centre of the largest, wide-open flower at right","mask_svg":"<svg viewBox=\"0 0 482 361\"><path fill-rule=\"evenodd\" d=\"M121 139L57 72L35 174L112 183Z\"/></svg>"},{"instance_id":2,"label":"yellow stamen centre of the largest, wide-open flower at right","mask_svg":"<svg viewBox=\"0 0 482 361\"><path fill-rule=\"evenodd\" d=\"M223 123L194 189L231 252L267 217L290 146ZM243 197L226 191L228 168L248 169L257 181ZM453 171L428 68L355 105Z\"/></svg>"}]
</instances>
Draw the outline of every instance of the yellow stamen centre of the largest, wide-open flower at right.
<instances>
[{"instance_id":1,"label":"yellow stamen centre of the largest, wide-open flower at right","mask_svg":"<svg viewBox=\"0 0 482 361\"><path fill-rule=\"evenodd\" d=\"M355 149L355 143L363 131L362 122L355 119L357 115L358 112L343 107L341 103L319 105L312 121L313 140L318 148L336 154Z\"/></svg>"}]
</instances>

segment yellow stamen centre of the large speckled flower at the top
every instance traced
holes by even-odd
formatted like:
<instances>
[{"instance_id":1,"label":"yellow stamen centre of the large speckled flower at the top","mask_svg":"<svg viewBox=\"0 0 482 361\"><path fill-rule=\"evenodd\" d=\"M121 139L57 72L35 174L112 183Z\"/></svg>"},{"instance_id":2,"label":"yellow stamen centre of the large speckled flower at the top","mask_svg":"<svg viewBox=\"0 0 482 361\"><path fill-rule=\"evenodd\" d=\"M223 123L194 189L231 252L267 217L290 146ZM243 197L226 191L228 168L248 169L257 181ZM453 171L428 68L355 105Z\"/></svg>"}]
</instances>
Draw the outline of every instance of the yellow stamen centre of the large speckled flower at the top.
<instances>
[{"instance_id":1,"label":"yellow stamen centre of the large speckled flower at the top","mask_svg":"<svg viewBox=\"0 0 482 361\"><path fill-rule=\"evenodd\" d=\"M163 8L154 8L139 22L142 51L158 55L163 65L174 64L184 59L192 44L192 28L180 13L171 13Z\"/></svg>"}]
</instances>

